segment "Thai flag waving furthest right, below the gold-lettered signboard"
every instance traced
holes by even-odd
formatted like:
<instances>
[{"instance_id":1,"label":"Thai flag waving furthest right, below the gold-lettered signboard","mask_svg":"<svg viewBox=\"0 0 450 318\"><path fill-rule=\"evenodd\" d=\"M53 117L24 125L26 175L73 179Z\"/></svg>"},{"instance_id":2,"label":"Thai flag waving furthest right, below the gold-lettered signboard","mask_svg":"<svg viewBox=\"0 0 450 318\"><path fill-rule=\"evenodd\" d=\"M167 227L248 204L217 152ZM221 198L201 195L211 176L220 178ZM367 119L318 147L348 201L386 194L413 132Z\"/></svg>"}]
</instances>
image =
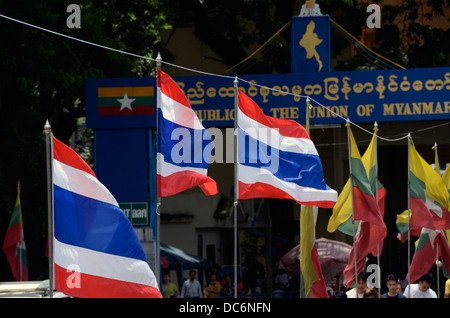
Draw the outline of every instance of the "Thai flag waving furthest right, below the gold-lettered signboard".
<instances>
[{"instance_id":1,"label":"Thai flag waving furthest right, below the gold-lettered signboard","mask_svg":"<svg viewBox=\"0 0 450 318\"><path fill-rule=\"evenodd\" d=\"M319 154L303 126L264 115L242 91L238 103L239 198L332 208L337 192L326 185Z\"/></svg>"}]
</instances>

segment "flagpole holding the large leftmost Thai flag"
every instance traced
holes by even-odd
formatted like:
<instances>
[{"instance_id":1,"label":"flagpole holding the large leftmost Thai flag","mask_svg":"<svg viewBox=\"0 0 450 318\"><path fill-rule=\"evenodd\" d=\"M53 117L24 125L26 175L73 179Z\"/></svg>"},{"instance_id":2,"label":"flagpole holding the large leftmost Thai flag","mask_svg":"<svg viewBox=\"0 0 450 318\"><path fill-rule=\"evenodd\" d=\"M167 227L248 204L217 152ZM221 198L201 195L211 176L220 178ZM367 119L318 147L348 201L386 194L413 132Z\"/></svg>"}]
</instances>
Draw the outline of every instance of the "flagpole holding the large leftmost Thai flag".
<instances>
[{"instance_id":1,"label":"flagpole holding the large leftmost Thai flag","mask_svg":"<svg viewBox=\"0 0 450 318\"><path fill-rule=\"evenodd\" d=\"M47 206L48 206L48 295L53 298L54 276L53 276L53 135L48 120L44 126L47 153Z\"/></svg>"}]
</instances>

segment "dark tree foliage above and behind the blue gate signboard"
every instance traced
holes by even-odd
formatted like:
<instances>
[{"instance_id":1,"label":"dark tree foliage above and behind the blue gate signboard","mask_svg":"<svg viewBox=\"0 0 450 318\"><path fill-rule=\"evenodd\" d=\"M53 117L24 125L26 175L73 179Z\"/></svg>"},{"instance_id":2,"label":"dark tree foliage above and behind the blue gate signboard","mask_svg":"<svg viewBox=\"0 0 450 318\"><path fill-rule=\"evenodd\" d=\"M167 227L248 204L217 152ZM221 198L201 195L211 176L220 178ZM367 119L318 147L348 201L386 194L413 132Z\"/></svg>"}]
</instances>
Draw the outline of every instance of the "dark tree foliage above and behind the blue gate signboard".
<instances>
[{"instance_id":1,"label":"dark tree foliage above and behind the blue gate signboard","mask_svg":"<svg viewBox=\"0 0 450 318\"><path fill-rule=\"evenodd\" d=\"M374 50L405 67L433 67L449 62L450 31L448 22L442 27L431 27L433 19L444 17L450 2L445 0L398 1L384 4L382 0L320 0L323 14L360 38L366 25L369 3L379 4L381 28L376 30ZM208 45L227 66L245 59L255 47L262 45L270 36L298 15L299 4L304 1L280 0L162 0L167 21L175 31L179 27L193 27L194 34ZM392 3L392 1L389 1ZM344 48L353 45L348 37L331 26L331 54L336 57ZM165 43L162 44L164 47ZM258 59L235 70L238 74L289 73L289 28L264 49ZM167 53L166 53L167 54ZM167 60L175 52L164 55ZM205 57L208 58L208 57ZM359 52L340 60L335 70L361 68L384 68L373 57Z\"/></svg>"}]
</instances>

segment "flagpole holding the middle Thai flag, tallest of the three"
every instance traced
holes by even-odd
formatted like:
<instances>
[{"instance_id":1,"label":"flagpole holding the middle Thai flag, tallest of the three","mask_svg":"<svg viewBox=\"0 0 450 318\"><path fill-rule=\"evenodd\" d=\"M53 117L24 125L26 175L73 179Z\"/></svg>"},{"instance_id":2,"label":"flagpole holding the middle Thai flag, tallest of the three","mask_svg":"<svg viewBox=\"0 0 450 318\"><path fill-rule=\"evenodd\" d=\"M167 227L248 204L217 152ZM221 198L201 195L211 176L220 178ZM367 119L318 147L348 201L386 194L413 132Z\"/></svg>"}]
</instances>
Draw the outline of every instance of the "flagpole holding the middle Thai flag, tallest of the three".
<instances>
[{"instance_id":1,"label":"flagpole holding the middle Thai flag, tallest of the three","mask_svg":"<svg viewBox=\"0 0 450 318\"><path fill-rule=\"evenodd\" d=\"M161 70L161 54L158 53L158 56L156 57L156 70L157 72ZM156 80L159 81L158 74L156 75ZM157 97L156 97L156 145L158 146L158 134L159 134L159 127L158 127L158 118L159 118L159 110L161 109L161 88L157 83L156 89L157 89ZM158 159L158 151L156 153L156 171L160 171L161 163ZM161 286L161 275L160 275L160 267L161 267L161 258L160 258L160 214L161 214L161 197L158 195L158 184L156 185L156 252L155 252L155 258L156 258L156 264L155 264L155 276L156 281L158 282L158 286L162 288Z\"/></svg>"}]
</instances>

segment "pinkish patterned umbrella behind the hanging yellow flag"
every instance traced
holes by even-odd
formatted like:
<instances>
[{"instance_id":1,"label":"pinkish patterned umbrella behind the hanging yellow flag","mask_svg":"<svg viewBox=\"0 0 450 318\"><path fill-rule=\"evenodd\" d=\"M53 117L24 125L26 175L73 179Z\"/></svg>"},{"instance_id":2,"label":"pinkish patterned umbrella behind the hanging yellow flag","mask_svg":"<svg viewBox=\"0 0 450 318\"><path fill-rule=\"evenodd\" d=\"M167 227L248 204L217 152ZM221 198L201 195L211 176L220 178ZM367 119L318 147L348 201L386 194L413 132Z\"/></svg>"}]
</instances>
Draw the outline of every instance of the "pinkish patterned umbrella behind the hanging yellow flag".
<instances>
[{"instance_id":1,"label":"pinkish patterned umbrella behind the hanging yellow flag","mask_svg":"<svg viewBox=\"0 0 450 318\"><path fill-rule=\"evenodd\" d=\"M352 249L351 245L326 238L319 238L316 240L316 246L322 274L325 279L335 277L347 266ZM281 257L278 267L285 270L291 276L300 274L299 245Z\"/></svg>"}]
</instances>

